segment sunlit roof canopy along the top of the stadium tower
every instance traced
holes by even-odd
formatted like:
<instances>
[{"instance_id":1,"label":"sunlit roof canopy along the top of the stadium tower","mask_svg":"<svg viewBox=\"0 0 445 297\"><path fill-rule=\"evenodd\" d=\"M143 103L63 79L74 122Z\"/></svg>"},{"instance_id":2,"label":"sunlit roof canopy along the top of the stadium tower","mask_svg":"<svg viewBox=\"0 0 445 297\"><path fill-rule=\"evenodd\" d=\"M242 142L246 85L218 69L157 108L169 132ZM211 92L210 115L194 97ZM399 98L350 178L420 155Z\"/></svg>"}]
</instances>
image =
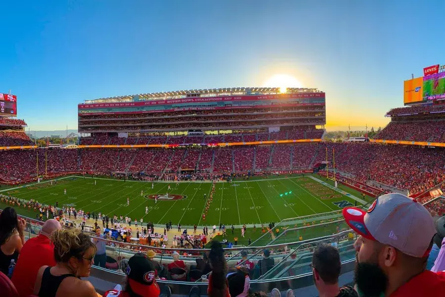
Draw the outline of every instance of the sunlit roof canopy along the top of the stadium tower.
<instances>
[{"instance_id":1,"label":"sunlit roof canopy along the top of the stadium tower","mask_svg":"<svg viewBox=\"0 0 445 297\"><path fill-rule=\"evenodd\" d=\"M285 93L318 93L318 89L311 88L287 88ZM167 100L181 99L187 97L216 97L216 96L236 96L236 95L273 95L280 94L280 88L220 88L220 89L199 89L199 90L182 90L174 92L145 93L127 96L117 96L109 98L99 98L94 100L85 100L88 103L101 102L128 102L128 101L146 101L146 100Z\"/></svg>"}]
</instances>

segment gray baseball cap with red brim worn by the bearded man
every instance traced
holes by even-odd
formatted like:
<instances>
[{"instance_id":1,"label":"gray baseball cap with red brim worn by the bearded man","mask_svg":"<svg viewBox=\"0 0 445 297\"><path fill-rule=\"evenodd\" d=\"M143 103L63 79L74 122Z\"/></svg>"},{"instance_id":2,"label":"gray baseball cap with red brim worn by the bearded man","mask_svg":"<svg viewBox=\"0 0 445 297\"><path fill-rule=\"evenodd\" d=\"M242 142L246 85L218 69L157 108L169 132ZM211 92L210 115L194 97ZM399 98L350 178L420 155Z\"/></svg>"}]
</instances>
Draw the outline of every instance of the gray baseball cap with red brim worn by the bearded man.
<instances>
[{"instance_id":1,"label":"gray baseball cap with red brim worn by the bearded man","mask_svg":"<svg viewBox=\"0 0 445 297\"><path fill-rule=\"evenodd\" d=\"M343 209L346 223L364 238L399 249L413 257L426 257L436 234L433 218L417 200L399 193L382 195L367 211Z\"/></svg>"}]
</instances>

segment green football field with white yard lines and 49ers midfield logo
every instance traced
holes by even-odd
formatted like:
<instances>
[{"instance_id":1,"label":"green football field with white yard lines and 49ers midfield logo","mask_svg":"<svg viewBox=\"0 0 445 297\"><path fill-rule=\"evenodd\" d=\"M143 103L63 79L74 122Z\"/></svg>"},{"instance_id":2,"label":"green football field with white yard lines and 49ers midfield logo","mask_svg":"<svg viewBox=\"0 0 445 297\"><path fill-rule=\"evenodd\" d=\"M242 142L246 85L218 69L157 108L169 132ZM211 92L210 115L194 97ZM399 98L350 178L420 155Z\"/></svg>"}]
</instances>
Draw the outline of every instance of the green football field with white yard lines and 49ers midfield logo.
<instances>
[{"instance_id":1,"label":"green football field with white yard lines and 49ers midfield logo","mask_svg":"<svg viewBox=\"0 0 445 297\"><path fill-rule=\"evenodd\" d=\"M357 205L364 204L358 194L354 196L350 191L329 187L315 175L217 182L213 200L206 210L211 188L211 183L155 182L152 189L151 182L71 176L53 181L52 185L45 181L3 190L0 194L51 205L57 201L59 207L74 206L85 212L128 216L133 221L142 218L144 223L165 224L171 220L173 225L182 226L267 225L286 218L339 210L354 205L356 200ZM202 214L206 212L204 221Z\"/></svg>"}]
</instances>

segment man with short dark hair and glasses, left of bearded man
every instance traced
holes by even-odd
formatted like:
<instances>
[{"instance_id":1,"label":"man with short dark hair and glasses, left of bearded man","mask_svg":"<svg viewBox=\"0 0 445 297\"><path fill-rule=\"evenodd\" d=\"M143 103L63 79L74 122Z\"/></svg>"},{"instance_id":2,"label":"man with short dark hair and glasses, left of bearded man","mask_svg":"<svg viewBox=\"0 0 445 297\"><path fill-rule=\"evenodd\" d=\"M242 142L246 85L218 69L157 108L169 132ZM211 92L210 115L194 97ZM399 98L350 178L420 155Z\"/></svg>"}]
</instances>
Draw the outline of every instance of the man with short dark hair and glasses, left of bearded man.
<instances>
[{"instance_id":1,"label":"man with short dark hair and glasses, left of bearded man","mask_svg":"<svg viewBox=\"0 0 445 297\"><path fill-rule=\"evenodd\" d=\"M342 264L338 249L321 244L315 247L312 255L313 283L320 297L357 297L356 291L349 286L339 288L338 278Z\"/></svg>"}]
</instances>

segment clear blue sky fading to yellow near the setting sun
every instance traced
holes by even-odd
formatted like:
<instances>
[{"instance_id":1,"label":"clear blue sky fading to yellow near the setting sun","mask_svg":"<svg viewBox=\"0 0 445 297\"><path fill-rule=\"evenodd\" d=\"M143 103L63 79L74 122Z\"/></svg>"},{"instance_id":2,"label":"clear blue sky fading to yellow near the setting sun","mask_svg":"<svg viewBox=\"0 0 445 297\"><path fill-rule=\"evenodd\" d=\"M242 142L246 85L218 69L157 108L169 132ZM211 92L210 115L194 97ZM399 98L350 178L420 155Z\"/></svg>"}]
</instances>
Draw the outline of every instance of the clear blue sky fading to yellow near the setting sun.
<instances>
[{"instance_id":1,"label":"clear blue sky fading to yellow near the setting sun","mask_svg":"<svg viewBox=\"0 0 445 297\"><path fill-rule=\"evenodd\" d=\"M445 62L445 1L1 1L0 93L30 130L77 129L88 99L294 76L326 128L385 126L403 80Z\"/></svg>"}]
</instances>

